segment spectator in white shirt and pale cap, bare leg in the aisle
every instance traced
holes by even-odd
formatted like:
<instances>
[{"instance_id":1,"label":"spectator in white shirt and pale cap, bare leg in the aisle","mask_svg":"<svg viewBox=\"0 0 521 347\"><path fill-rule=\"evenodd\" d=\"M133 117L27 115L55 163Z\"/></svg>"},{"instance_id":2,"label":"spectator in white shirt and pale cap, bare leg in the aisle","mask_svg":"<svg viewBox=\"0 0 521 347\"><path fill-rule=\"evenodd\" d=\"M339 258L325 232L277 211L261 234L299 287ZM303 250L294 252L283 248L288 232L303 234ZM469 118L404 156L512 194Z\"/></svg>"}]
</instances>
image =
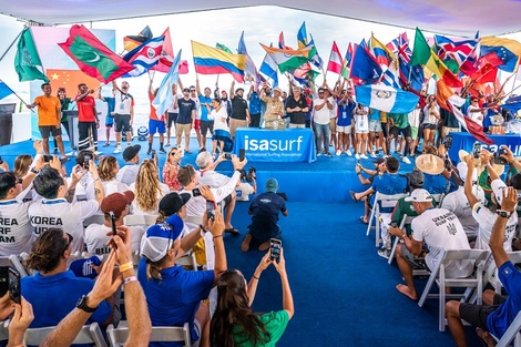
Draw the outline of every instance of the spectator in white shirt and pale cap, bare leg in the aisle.
<instances>
[{"instance_id":1,"label":"spectator in white shirt and pale cap, bare leg in the aisle","mask_svg":"<svg viewBox=\"0 0 521 347\"><path fill-rule=\"evenodd\" d=\"M202 152L197 155L195 163L200 167L200 172L201 172L200 184L201 185L210 185L210 187L212 188L219 188L219 187L225 186L226 183L228 183L228 181L232 180L231 177L223 175L215 171L215 167L224 160L225 160L224 154L221 154L216 162L214 162L212 154L210 154L210 152ZM234 180L234 182L236 181ZM224 224L225 224L225 233L238 235L238 231L232 225L232 215L235 210L235 201L236 201L235 191L233 191L224 200L225 202Z\"/></svg>"}]
</instances>

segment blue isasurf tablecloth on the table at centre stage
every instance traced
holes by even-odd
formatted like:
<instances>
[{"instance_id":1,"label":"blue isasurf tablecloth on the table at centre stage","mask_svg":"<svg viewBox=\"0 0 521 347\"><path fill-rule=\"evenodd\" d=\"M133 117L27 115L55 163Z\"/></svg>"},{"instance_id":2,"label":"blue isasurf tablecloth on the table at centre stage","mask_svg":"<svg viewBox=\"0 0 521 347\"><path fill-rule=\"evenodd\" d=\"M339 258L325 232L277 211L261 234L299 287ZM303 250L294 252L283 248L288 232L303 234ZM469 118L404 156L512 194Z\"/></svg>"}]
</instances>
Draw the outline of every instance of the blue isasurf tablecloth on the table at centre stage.
<instances>
[{"instance_id":1,"label":"blue isasurf tablecloth on the table at centre stage","mask_svg":"<svg viewBox=\"0 0 521 347\"><path fill-rule=\"evenodd\" d=\"M317 160L310 129L266 130L238 127L234 153L239 149L252 162L314 162Z\"/></svg>"}]
</instances>

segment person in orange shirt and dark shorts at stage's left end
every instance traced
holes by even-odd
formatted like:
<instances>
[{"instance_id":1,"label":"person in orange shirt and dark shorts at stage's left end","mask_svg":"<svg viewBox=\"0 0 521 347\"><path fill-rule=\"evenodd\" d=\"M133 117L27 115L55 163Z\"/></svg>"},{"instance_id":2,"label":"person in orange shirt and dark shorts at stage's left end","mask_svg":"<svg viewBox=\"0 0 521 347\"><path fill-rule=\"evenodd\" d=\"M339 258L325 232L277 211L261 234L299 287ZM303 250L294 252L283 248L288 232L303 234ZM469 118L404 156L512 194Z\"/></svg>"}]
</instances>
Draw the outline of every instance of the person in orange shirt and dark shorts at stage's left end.
<instances>
[{"instance_id":1,"label":"person in orange shirt and dark shorts at stage's left end","mask_svg":"<svg viewBox=\"0 0 521 347\"><path fill-rule=\"evenodd\" d=\"M65 159L65 149L61 137L61 103L57 96L51 95L50 83L41 85L43 95L37 96L34 102L28 105L32 110L38 106L38 129L43 139L43 152L49 154L49 136L52 134L57 141L62 159Z\"/></svg>"}]
</instances>

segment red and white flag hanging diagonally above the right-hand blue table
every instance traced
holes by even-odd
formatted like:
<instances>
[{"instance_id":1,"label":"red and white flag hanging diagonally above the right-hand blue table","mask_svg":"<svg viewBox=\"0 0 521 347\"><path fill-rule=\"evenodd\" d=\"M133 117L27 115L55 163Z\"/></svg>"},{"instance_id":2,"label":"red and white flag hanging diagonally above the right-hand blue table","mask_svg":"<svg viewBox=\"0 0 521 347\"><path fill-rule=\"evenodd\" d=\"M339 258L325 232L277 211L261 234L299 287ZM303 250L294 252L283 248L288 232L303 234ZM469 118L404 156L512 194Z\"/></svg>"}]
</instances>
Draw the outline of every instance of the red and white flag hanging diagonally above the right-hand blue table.
<instances>
[{"instance_id":1,"label":"red and white flag hanging diagonally above the right-hand blue table","mask_svg":"<svg viewBox=\"0 0 521 347\"><path fill-rule=\"evenodd\" d=\"M458 108L464 103L464 99L454 94L454 92L447 85L445 80L436 82L436 100L438 104L450 112L452 112L456 119L476 140L479 140L486 144L493 143L483 132L483 126L472 121L470 118L464 115Z\"/></svg>"}]
</instances>

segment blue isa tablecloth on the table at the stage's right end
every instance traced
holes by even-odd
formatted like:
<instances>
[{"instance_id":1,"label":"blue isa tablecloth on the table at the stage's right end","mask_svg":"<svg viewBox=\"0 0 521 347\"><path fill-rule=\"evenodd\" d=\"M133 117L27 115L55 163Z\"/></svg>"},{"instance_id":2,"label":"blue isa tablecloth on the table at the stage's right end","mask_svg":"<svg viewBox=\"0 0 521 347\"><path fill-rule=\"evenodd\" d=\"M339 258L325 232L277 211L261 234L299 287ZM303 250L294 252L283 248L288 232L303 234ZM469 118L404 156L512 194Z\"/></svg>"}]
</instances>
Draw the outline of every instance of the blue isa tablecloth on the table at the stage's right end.
<instances>
[{"instance_id":1,"label":"blue isa tablecloth on the table at the stage's right end","mask_svg":"<svg viewBox=\"0 0 521 347\"><path fill-rule=\"evenodd\" d=\"M452 136L452 146L449 150L449 156L452 161L459 162L459 150L472 152L476 139L469 133L450 133ZM481 144L481 149L490 152L498 152L500 145L510 147L514 156L521 156L521 136L519 134L488 135L494 143L491 145Z\"/></svg>"}]
</instances>

